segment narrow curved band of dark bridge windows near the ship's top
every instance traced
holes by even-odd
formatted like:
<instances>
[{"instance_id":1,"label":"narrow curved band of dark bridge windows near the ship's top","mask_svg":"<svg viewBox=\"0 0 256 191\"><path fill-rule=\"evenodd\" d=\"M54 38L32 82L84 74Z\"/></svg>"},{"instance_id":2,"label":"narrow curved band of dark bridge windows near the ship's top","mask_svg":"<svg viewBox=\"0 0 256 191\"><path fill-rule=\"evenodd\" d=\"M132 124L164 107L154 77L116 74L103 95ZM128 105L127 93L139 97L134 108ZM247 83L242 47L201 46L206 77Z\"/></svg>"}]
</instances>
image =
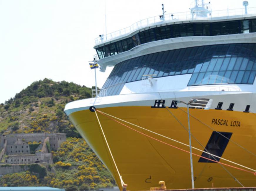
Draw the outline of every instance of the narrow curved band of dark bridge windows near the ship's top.
<instances>
[{"instance_id":1,"label":"narrow curved band of dark bridge windows near the ship's top","mask_svg":"<svg viewBox=\"0 0 256 191\"><path fill-rule=\"evenodd\" d=\"M156 40L189 36L231 35L249 32L256 32L256 19L232 20L214 23L172 24L140 31L132 37L96 48L96 51L98 57L101 59L128 51L140 44Z\"/></svg>"}]
</instances>

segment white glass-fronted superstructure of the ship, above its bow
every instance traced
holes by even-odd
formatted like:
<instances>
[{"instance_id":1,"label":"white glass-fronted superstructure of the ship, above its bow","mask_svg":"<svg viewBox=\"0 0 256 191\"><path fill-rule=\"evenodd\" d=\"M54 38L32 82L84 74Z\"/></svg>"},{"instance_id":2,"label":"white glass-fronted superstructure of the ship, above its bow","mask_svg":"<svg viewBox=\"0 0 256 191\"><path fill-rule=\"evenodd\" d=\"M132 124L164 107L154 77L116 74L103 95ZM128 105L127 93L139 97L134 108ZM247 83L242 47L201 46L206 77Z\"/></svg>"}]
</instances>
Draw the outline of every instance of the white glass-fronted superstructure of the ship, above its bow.
<instances>
[{"instance_id":1,"label":"white glass-fronted superstructure of the ship, above its bow","mask_svg":"<svg viewBox=\"0 0 256 191\"><path fill-rule=\"evenodd\" d=\"M254 13L256 8L213 11L208 17L173 13L96 39L101 71L115 66L102 88L108 96L217 87L250 91L256 75Z\"/></svg>"}]
</instances>

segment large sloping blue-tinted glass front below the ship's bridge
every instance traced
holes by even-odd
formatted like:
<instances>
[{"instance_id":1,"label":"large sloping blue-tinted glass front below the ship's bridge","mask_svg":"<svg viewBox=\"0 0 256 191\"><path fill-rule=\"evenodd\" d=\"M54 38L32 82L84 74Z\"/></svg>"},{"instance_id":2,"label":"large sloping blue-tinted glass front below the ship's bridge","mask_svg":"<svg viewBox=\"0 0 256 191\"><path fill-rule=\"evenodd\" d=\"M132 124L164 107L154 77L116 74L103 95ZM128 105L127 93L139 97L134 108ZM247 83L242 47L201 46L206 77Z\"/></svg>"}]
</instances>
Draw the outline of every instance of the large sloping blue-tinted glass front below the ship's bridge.
<instances>
[{"instance_id":1,"label":"large sloping blue-tinted glass front below the ship's bridge","mask_svg":"<svg viewBox=\"0 0 256 191\"><path fill-rule=\"evenodd\" d=\"M256 75L256 44L218 44L157 52L117 64L103 88L117 95L127 82L192 74L188 86L253 84Z\"/></svg>"}]
</instances>

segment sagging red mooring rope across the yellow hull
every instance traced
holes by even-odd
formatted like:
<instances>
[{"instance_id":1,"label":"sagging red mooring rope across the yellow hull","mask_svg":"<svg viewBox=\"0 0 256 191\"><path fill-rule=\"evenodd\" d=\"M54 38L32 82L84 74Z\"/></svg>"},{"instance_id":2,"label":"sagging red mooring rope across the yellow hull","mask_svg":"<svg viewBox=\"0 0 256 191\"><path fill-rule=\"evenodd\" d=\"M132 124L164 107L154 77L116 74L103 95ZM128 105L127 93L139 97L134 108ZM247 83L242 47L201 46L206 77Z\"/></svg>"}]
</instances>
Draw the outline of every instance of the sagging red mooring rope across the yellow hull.
<instances>
[{"instance_id":1,"label":"sagging red mooring rope across the yellow hull","mask_svg":"<svg viewBox=\"0 0 256 191\"><path fill-rule=\"evenodd\" d=\"M168 143L163 142L163 141L161 141L161 140L158 140L158 139L156 139L156 138L154 138L154 137L151 137L151 136L149 136L149 135L146 135L145 133L141 133L140 131L135 130L135 129L133 129L133 128L131 128L131 127L129 127L129 126L127 126L127 125L125 125L125 124L123 124L123 123L121 123L121 122L119 122L119 121L117 121L117 120L115 120L115 119L113 119L113 118L111 118L111 117L109 117L108 115L106 115L105 113L102 113L102 112L99 111L99 110L97 110L97 111L98 111L99 113L101 113L102 115L107 116L108 118L112 119L113 121L116 121L117 123L120 123L121 125L123 125L123 126L129 128L129 129L131 129L131 130L134 130L134 131L136 131L136 132L138 132L138 133L140 133L140 134L142 134L142 135L145 135L146 137L149 137L149 138L151 138L151 139L153 139L153 140L156 140L156 141L158 141L158 142L161 142L161 143L163 143L163 144L166 144L166 145L168 145L168 146L170 146L170 147L173 147L173 148L179 149L179 150L181 150L181 151L190 153L189 151L186 151L186 150L181 149L181 148L179 148L179 147L175 147L175 146L173 146L173 145L171 145L171 144L168 144ZM225 164L225 163L222 163L222 162L219 162L219 161L215 161L215 160L213 160L213 159L209 159L209 158L207 158L207 157L200 156L200 155L195 154L195 153L192 153L192 154L195 155L195 156L199 156L199 157L201 157L201 158L203 158L203 159L207 159L207 160L210 160L210 161L213 161L213 162L216 162L216 163L225 165L225 166L229 166L229 167L238 169L238 170L240 170L240 171L245 171L245 172L248 172L248 173L252 173L252 174L254 174L254 175L256 176L256 172L247 171L247 170L245 170L245 169L238 168L238 167L235 167L235 166L232 166L232 165L229 165L229 164Z\"/></svg>"}]
</instances>

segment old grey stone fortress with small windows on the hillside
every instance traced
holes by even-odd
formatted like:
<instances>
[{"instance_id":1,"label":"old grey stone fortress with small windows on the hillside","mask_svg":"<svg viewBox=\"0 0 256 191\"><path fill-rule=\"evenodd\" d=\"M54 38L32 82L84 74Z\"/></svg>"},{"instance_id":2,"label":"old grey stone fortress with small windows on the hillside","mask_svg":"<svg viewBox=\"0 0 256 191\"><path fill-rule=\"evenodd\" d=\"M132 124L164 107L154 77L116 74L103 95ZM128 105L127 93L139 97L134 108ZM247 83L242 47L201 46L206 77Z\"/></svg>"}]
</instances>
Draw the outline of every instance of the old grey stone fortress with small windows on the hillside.
<instances>
[{"instance_id":1,"label":"old grey stone fortress with small windows on the hillside","mask_svg":"<svg viewBox=\"0 0 256 191\"><path fill-rule=\"evenodd\" d=\"M33 143L35 142L36 143ZM32 133L2 135L0 141L0 161L7 164L52 163L52 155L47 148L57 150L66 141L65 133ZM6 156L7 155L7 156Z\"/></svg>"}]
</instances>

